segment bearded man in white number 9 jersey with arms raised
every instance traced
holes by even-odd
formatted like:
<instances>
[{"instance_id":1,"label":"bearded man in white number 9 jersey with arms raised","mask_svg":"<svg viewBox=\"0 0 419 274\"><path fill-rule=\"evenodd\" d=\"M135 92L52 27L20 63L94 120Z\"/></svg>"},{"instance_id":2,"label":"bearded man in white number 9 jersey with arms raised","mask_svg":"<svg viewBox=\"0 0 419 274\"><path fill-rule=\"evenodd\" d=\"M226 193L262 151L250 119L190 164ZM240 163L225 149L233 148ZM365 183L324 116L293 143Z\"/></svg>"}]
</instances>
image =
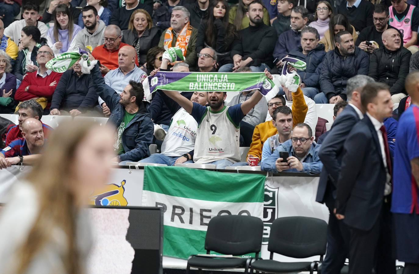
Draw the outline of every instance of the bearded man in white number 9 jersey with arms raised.
<instances>
[{"instance_id":1,"label":"bearded man in white number 9 jersey with arms raised","mask_svg":"<svg viewBox=\"0 0 419 274\"><path fill-rule=\"evenodd\" d=\"M273 78L268 70L265 70L265 75L269 79ZM246 81L245 75L243 81ZM234 106L224 106L226 92L208 91L207 107L191 102L177 91L163 92L198 122L194 146L195 163L214 164L217 169L222 169L240 161L240 121L262 98L259 91L253 93L248 100Z\"/></svg>"}]
</instances>

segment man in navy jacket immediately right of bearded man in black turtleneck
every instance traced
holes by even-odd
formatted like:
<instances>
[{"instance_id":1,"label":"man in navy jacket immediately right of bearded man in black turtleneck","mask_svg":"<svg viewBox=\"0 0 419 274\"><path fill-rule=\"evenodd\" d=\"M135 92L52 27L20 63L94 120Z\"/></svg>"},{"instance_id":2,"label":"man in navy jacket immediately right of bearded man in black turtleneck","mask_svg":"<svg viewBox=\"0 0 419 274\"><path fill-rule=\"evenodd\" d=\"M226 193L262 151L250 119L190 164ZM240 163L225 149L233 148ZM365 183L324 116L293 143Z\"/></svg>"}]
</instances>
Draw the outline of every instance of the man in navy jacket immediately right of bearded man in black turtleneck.
<instances>
[{"instance_id":1,"label":"man in navy jacket immediately right of bearded man in black turtleneck","mask_svg":"<svg viewBox=\"0 0 419 274\"><path fill-rule=\"evenodd\" d=\"M284 65L281 59L301 44L301 30L308 21L308 10L304 6L297 6L291 11L291 29L278 37L274 49L274 58L278 58L277 67Z\"/></svg>"}]
</instances>

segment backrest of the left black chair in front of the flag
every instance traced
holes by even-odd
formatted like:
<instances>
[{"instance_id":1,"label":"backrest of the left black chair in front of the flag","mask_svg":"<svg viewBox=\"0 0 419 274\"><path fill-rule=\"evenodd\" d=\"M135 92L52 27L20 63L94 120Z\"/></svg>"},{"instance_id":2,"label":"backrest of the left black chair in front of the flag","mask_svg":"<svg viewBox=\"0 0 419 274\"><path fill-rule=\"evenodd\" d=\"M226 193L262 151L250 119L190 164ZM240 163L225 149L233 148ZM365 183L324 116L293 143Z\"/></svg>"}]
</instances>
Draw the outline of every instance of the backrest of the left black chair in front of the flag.
<instances>
[{"instance_id":1,"label":"backrest of the left black chair in front of the flag","mask_svg":"<svg viewBox=\"0 0 419 274\"><path fill-rule=\"evenodd\" d=\"M247 215L222 215L208 223L205 249L227 255L258 254L261 250L263 222Z\"/></svg>"}]
</instances>

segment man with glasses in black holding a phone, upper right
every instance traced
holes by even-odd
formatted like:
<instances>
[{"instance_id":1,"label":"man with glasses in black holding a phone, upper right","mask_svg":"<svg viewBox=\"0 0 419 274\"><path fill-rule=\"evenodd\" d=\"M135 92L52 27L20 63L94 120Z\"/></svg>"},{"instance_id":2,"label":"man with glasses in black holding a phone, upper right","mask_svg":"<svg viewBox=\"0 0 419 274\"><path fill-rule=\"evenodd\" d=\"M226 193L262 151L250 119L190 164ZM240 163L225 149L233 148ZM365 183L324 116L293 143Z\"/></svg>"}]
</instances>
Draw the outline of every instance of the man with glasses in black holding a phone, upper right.
<instances>
[{"instance_id":1,"label":"man with glasses in black holding a phone, upper right","mask_svg":"<svg viewBox=\"0 0 419 274\"><path fill-rule=\"evenodd\" d=\"M376 5L374 13L372 13L372 21L374 22L374 25L368 26L360 32L355 46L360 47L360 49L370 54L374 49L384 47L383 40L381 39L383 32L389 28L396 29L395 27L388 24L388 15L388 8L385 5ZM400 37L403 37L403 34L400 31L399 33ZM375 43L378 44L378 47L371 41L375 41ZM403 43L403 38L401 42Z\"/></svg>"}]
</instances>

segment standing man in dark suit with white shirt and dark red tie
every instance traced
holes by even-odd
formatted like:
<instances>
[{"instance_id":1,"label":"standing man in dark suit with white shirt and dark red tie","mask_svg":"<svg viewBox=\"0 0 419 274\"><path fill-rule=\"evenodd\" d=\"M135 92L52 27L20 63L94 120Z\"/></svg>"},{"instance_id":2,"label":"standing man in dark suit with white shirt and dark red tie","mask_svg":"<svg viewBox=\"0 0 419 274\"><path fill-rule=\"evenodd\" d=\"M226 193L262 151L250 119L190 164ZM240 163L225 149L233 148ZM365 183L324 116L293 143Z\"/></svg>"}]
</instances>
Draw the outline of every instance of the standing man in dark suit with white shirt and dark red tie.
<instances>
[{"instance_id":1,"label":"standing man in dark suit with white shirt and dark red tie","mask_svg":"<svg viewBox=\"0 0 419 274\"><path fill-rule=\"evenodd\" d=\"M361 92L364 119L344 143L336 189L336 218L349 227L349 274L396 274L391 236L391 156L383 120L393 103L388 85Z\"/></svg>"}]
</instances>

